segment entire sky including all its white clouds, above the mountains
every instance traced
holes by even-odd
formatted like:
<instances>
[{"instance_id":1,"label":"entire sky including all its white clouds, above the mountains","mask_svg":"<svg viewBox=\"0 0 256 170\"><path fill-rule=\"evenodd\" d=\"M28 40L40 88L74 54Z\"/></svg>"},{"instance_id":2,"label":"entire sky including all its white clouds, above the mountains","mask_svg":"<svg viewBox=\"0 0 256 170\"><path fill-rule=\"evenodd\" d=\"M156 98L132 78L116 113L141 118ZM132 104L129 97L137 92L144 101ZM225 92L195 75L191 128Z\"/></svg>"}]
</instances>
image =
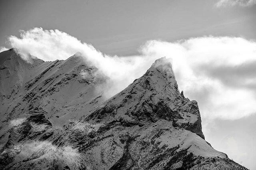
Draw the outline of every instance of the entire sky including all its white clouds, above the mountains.
<instances>
[{"instance_id":1,"label":"entire sky including all its white clouds, above the mountains","mask_svg":"<svg viewBox=\"0 0 256 170\"><path fill-rule=\"evenodd\" d=\"M76 52L125 88L159 57L198 101L206 140L256 169L256 0L2 0L0 51ZM23 31L20 31L23 30ZM114 88L114 89L113 89Z\"/></svg>"}]
</instances>

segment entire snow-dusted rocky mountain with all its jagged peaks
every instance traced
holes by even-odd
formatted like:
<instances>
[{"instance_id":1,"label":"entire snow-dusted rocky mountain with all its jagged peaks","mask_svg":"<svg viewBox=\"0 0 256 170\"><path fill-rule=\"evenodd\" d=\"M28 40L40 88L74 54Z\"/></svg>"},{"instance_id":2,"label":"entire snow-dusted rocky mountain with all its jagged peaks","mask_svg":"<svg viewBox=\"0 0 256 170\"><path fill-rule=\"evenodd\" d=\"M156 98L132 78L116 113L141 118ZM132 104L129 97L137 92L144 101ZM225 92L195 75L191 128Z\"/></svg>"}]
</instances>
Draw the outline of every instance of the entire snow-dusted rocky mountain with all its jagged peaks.
<instances>
[{"instance_id":1,"label":"entire snow-dusted rocky mountain with all its jagged peaks","mask_svg":"<svg viewBox=\"0 0 256 170\"><path fill-rule=\"evenodd\" d=\"M96 71L78 54L0 53L0 169L246 169L204 140L197 102L165 57L107 100Z\"/></svg>"}]
</instances>

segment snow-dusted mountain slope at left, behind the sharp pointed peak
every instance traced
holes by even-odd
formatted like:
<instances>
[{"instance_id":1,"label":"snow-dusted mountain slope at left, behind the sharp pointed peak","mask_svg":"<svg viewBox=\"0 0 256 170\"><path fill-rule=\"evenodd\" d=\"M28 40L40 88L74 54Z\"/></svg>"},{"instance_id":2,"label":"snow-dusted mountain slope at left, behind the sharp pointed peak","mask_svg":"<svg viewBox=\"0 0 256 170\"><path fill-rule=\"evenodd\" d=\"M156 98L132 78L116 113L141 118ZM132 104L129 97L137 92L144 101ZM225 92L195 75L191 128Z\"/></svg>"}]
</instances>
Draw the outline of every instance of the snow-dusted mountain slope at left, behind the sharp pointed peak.
<instances>
[{"instance_id":1,"label":"snow-dusted mountain slope at left, behind the sharp pointed peak","mask_svg":"<svg viewBox=\"0 0 256 170\"><path fill-rule=\"evenodd\" d=\"M33 57L28 63L10 49L0 58L2 165L12 162L28 140L45 140L102 103L95 91L96 68L79 55L52 62Z\"/></svg>"}]
</instances>

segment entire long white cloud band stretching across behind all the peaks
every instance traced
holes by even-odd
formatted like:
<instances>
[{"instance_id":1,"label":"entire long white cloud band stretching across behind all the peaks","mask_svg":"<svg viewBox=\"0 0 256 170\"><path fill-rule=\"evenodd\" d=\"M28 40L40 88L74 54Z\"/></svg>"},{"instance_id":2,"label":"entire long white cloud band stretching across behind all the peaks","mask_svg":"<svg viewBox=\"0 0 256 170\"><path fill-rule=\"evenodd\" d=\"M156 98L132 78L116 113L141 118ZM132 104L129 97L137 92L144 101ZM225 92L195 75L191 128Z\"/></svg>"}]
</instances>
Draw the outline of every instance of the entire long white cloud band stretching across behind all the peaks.
<instances>
[{"instance_id":1,"label":"entire long white cloud band stretching across behind all the peaks","mask_svg":"<svg viewBox=\"0 0 256 170\"><path fill-rule=\"evenodd\" d=\"M140 55L109 56L59 30L34 28L9 42L24 59L67 59L78 51L104 73L107 97L142 76L158 58L172 58L179 89L198 101L203 119L239 119L256 113L256 42L234 37L199 37L178 42L148 41ZM87 76L81 72L83 76Z\"/></svg>"}]
</instances>

